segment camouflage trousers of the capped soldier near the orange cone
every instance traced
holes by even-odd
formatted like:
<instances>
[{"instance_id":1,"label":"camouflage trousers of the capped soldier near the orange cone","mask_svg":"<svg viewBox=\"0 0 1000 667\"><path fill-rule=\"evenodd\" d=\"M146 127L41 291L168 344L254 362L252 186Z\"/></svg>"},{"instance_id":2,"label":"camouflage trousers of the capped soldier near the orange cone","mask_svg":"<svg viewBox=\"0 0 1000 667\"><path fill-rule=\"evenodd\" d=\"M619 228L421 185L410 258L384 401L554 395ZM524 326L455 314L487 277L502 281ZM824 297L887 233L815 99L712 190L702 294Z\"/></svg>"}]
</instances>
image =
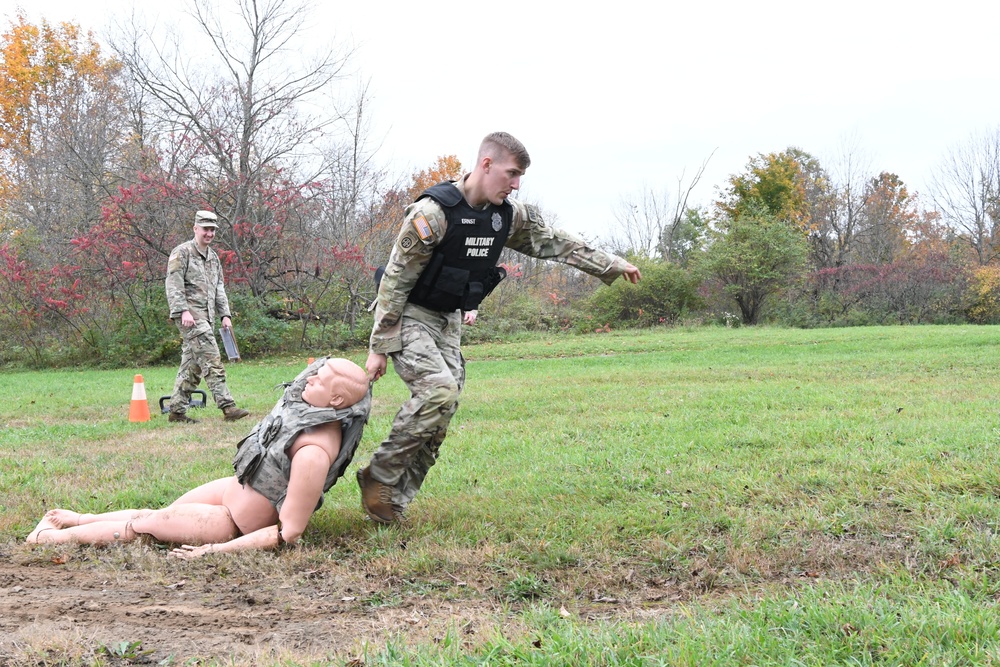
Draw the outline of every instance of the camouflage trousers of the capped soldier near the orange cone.
<instances>
[{"instance_id":1,"label":"camouflage trousers of the capped soldier near the orange cone","mask_svg":"<svg viewBox=\"0 0 1000 667\"><path fill-rule=\"evenodd\" d=\"M205 321L195 322L193 327L185 327L176 320L181 332L181 367L174 380L174 393L170 397L170 411L183 413L191 403L191 393L205 378L205 384L212 392L212 398L219 409L235 405L229 387L226 386L226 369L222 366L219 344L215 341L212 325Z\"/></svg>"}]
</instances>

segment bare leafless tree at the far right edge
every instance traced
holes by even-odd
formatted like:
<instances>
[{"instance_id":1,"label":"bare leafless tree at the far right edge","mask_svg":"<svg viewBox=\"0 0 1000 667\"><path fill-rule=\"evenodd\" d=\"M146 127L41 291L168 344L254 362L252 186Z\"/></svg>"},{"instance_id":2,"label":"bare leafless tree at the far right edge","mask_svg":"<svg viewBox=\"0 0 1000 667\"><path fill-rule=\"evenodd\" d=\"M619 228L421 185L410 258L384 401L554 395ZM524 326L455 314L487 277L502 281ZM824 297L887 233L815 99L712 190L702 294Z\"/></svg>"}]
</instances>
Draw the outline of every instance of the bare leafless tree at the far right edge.
<instances>
[{"instance_id":1,"label":"bare leafless tree at the far right edge","mask_svg":"<svg viewBox=\"0 0 1000 667\"><path fill-rule=\"evenodd\" d=\"M952 149L934 173L931 196L979 264L994 260L1000 250L1000 128Z\"/></svg>"}]
</instances>

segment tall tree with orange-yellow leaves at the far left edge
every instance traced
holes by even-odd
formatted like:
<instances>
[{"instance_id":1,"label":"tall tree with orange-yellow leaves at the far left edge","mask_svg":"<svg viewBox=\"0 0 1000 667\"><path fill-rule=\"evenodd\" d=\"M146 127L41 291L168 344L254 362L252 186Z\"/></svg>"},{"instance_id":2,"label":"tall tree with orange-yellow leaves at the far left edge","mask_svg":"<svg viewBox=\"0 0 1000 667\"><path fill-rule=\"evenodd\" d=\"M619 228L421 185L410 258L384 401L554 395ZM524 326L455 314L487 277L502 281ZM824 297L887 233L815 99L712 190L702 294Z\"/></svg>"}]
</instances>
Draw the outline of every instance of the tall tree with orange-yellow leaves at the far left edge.
<instances>
[{"instance_id":1,"label":"tall tree with orange-yellow leaves at the far left edge","mask_svg":"<svg viewBox=\"0 0 1000 667\"><path fill-rule=\"evenodd\" d=\"M71 23L0 35L0 341L99 356L103 295L73 239L101 219L130 137L118 63Z\"/></svg>"}]
</instances>

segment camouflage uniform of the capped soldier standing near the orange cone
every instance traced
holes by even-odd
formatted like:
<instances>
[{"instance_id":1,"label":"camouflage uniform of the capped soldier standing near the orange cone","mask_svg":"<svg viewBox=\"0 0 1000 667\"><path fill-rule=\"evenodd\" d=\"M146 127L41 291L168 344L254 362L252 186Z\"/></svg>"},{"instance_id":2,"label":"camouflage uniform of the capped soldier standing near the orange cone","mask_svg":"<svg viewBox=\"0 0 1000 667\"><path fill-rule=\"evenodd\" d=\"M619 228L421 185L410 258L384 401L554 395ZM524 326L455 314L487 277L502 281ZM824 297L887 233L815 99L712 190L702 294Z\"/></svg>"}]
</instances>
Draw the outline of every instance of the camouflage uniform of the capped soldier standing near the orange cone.
<instances>
[{"instance_id":1,"label":"camouflage uniform of the capped soldier standing near the orange cone","mask_svg":"<svg viewBox=\"0 0 1000 667\"><path fill-rule=\"evenodd\" d=\"M184 414L202 377L220 409L235 405L215 340L215 318L231 317L219 256L211 248L202 254L194 239L180 244L167 260L166 290L170 319L182 338L181 366L170 397L170 411ZM193 327L181 324L185 310L194 317Z\"/></svg>"}]
</instances>

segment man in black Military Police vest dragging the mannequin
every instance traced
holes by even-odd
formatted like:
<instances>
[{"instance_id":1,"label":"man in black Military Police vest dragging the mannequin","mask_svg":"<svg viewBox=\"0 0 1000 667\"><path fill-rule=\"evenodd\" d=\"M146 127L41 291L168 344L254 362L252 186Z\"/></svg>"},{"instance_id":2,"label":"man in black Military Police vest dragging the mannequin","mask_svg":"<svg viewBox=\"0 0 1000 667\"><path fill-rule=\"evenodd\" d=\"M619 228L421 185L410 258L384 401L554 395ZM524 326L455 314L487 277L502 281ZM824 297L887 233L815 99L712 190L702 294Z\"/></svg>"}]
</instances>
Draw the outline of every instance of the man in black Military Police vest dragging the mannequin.
<instances>
[{"instance_id":1,"label":"man in black Military Police vest dragging the mannequin","mask_svg":"<svg viewBox=\"0 0 1000 667\"><path fill-rule=\"evenodd\" d=\"M379 284L368 378L385 374L389 355L411 393L357 474L361 505L379 523L402 517L437 460L465 384L462 314L471 324L502 278L496 264L505 246L569 264L606 284L621 275L632 283L641 277L624 259L549 227L535 206L507 198L531 163L520 141L490 134L476 160L471 173L435 185L406 209Z\"/></svg>"}]
</instances>

